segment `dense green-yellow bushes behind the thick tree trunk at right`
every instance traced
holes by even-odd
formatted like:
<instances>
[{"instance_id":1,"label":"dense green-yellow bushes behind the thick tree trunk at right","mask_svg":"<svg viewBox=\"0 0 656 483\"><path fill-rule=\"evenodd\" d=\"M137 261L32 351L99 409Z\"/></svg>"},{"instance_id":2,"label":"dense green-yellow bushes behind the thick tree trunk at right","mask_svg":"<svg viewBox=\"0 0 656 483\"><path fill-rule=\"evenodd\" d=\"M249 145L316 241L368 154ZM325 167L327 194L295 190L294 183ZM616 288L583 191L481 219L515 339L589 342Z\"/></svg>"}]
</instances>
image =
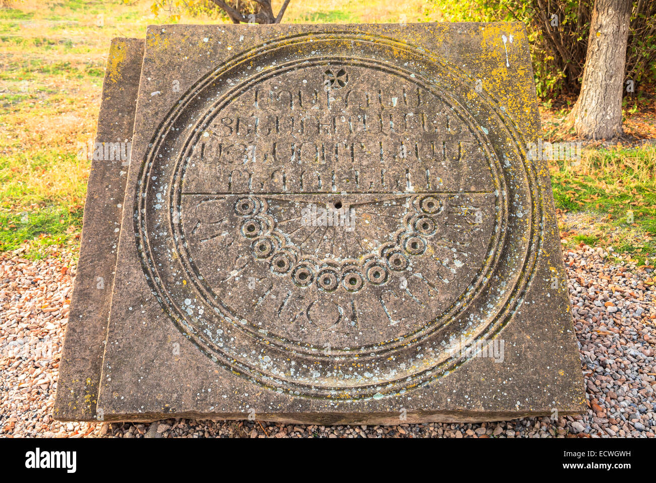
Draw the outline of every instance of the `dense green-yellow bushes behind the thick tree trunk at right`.
<instances>
[{"instance_id":1,"label":"dense green-yellow bushes behind the thick tree trunk at right","mask_svg":"<svg viewBox=\"0 0 656 483\"><path fill-rule=\"evenodd\" d=\"M578 94L594 0L433 0L445 18L462 22L520 21L527 26L538 95ZM631 13L626 79L656 83L656 0L638 1Z\"/></svg>"}]
</instances>

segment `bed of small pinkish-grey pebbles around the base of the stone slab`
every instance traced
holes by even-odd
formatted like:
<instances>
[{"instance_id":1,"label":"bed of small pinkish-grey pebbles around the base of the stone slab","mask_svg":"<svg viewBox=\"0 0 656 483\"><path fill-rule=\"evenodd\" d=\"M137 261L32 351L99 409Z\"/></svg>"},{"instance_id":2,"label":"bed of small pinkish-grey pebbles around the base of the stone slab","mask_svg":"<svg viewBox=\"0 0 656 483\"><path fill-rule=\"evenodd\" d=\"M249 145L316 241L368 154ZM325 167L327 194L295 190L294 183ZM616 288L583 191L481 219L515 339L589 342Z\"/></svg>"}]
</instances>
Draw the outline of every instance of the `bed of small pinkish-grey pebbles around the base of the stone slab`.
<instances>
[{"instance_id":1,"label":"bed of small pinkish-grey pebbles around the base of the stone slab","mask_svg":"<svg viewBox=\"0 0 656 483\"><path fill-rule=\"evenodd\" d=\"M152 424L52 419L75 277L72 254L28 261L0 254L0 436L56 438L651 437L656 434L656 302L651 267L583 246L565 252L588 396L583 417L500 423L301 426L169 419Z\"/></svg>"}]
</instances>

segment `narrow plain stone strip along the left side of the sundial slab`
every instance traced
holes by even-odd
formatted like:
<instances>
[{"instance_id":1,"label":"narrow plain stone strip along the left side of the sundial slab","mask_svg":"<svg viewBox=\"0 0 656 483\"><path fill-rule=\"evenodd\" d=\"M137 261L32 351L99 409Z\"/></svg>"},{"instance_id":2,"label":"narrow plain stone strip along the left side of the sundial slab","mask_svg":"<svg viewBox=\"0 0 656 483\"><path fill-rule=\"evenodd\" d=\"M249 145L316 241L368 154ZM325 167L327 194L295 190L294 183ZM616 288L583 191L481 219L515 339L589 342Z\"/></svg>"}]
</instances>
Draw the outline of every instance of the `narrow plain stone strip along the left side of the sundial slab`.
<instances>
[{"instance_id":1,"label":"narrow plain stone strip along the left side of the sundial slab","mask_svg":"<svg viewBox=\"0 0 656 483\"><path fill-rule=\"evenodd\" d=\"M96 141L94 145L83 147L89 150L93 160L54 403L54 417L60 421L96 419L98 381L129 165L126 154L132 141L143 54L143 39L113 39Z\"/></svg>"}]
</instances>

